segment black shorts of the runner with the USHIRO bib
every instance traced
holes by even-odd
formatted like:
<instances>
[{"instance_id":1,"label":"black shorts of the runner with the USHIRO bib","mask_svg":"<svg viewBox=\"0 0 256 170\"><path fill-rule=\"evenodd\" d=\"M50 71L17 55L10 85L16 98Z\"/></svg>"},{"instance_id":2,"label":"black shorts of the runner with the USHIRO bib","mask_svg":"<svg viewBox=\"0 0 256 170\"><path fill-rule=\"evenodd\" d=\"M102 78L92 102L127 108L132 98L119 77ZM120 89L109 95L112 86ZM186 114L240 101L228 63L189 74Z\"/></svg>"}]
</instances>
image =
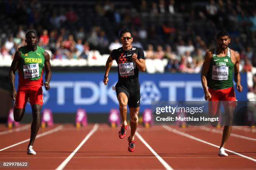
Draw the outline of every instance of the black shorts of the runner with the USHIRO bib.
<instances>
[{"instance_id":1,"label":"black shorts of the runner with the USHIRO bib","mask_svg":"<svg viewBox=\"0 0 256 170\"><path fill-rule=\"evenodd\" d=\"M120 92L124 92L128 98L128 107L140 107L141 104L141 92L139 82L135 83L116 83L115 85L116 96Z\"/></svg>"}]
</instances>

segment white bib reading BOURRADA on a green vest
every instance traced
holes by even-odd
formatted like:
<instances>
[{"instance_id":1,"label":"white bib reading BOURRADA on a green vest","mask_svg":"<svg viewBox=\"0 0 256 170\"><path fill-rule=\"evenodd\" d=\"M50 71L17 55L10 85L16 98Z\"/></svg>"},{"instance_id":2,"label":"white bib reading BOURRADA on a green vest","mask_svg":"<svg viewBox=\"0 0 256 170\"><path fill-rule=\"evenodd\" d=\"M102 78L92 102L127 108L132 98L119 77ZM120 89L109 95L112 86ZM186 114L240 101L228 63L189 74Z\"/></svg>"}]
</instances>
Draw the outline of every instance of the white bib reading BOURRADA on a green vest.
<instances>
[{"instance_id":1,"label":"white bib reading BOURRADA on a green vest","mask_svg":"<svg viewBox=\"0 0 256 170\"><path fill-rule=\"evenodd\" d=\"M212 66L212 80L228 80L228 66Z\"/></svg>"}]
</instances>

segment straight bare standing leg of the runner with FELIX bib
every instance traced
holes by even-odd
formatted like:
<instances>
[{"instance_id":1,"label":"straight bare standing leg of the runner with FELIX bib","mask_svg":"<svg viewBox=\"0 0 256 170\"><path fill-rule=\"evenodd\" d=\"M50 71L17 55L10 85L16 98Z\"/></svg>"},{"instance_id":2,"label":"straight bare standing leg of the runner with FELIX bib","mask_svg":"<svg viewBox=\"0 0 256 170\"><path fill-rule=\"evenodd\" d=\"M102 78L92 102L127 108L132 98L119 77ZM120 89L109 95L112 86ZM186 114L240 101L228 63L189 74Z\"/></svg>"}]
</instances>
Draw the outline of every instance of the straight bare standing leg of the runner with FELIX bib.
<instances>
[{"instance_id":1,"label":"straight bare standing leg of the runner with FELIX bib","mask_svg":"<svg viewBox=\"0 0 256 170\"><path fill-rule=\"evenodd\" d=\"M36 135L38 133L38 130L40 128L40 111L41 111L42 105L34 104L32 106L32 115L33 115L33 121L31 124L31 135L30 135L30 141L28 146L33 146L33 143L36 139Z\"/></svg>"}]
</instances>

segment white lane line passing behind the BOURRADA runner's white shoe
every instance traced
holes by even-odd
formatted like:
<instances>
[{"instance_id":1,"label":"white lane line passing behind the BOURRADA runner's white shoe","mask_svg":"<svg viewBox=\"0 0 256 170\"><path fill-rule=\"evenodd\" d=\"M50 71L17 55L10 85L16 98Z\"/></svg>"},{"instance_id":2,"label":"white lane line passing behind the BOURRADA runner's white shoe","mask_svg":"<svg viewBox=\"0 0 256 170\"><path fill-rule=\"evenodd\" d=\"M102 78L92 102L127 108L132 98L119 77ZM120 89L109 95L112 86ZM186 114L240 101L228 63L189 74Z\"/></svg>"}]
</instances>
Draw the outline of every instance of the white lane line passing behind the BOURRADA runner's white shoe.
<instances>
[{"instance_id":1,"label":"white lane line passing behind the BOURRADA runner's white shoe","mask_svg":"<svg viewBox=\"0 0 256 170\"><path fill-rule=\"evenodd\" d=\"M185 136L185 137L190 138L190 139L193 139L193 140L197 140L197 141L199 141L199 142L205 143L205 144L207 144L207 145L214 146L214 147L216 147L216 148L220 148L220 146L218 146L218 145L214 145L214 144L209 143L209 142L207 142L207 141L205 141L205 140L196 138L196 137L194 137L194 136L192 136L192 135L189 135L189 134L187 134L187 133L184 133L184 132L181 132L181 131L179 131L179 130L173 129L173 128L167 126L167 125L163 125L162 127L163 127L164 129L168 130L169 132L176 133L176 134L178 134L178 135L182 135L182 136ZM236 153L236 152L234 152L234 151L232 151L232 150L228 150L228 149L225 149L225 150L228 151L228 152L230 152L230 153L234 153L234 154L236 154L236 155L239 155L239 156L241 156L241 157L243 157L243 158L246 158L246 159L248 159L248 160L252 160L253 162L256 162L256 159L253 159L253 158L251 158L251 157L242 155L242 154L240 154L240 153Z\"/></svg>"}]
</instances>

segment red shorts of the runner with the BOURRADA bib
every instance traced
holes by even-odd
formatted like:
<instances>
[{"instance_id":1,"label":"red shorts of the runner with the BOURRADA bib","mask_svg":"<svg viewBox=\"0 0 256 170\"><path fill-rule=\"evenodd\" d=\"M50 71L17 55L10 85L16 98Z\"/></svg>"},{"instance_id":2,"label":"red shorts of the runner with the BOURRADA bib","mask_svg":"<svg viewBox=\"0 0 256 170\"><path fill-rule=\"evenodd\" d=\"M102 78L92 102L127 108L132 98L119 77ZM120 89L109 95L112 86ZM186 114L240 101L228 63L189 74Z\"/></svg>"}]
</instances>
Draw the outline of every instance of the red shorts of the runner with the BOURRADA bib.
<instances>
[{"instance_id":1,"label":"red shorts of the runner with the BOURRADA bib","mask_svg":"<svg viewBox=\"0 0 256 170\"><path fill-rule=\"evenodd\" d=\"M208 90L212 95L212 98L208 105L209 113L211 116L218 114L218 112L220 111L220 104L221 104L220 101L224 101L222 102L224 109L230 106L236 107L236 102L230 102L230 101L236 101L236 94L233 87L228 87L228 88L219 89L219 90L214 90L212 88L209 88Z\"/></svg>"}]
</instances>

